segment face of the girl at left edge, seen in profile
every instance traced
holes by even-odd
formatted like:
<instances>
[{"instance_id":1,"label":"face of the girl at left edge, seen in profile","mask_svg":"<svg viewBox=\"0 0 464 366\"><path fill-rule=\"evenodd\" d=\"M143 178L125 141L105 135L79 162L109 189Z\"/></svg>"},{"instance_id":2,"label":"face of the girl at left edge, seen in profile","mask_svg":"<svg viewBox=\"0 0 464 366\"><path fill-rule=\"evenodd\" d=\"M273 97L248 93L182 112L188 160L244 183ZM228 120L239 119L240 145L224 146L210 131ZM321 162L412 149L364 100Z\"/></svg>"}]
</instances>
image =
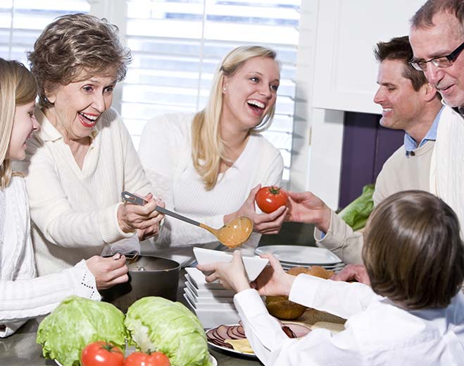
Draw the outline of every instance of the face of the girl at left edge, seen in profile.
<instances>
[{"instance_id":1,"label":"face of the girl at left edge, seen in profile","mask_svg":"<svg viewBox=\"0 0 464 366\"><path fill-rule=\"evenodd\" d=\"M35 102L30 102L15 108L15 119L11 131L10 143L6 157L11 160L23 160L26 157L26 140L39 129L34 116Z\"/></svg>"}]
</instances>

